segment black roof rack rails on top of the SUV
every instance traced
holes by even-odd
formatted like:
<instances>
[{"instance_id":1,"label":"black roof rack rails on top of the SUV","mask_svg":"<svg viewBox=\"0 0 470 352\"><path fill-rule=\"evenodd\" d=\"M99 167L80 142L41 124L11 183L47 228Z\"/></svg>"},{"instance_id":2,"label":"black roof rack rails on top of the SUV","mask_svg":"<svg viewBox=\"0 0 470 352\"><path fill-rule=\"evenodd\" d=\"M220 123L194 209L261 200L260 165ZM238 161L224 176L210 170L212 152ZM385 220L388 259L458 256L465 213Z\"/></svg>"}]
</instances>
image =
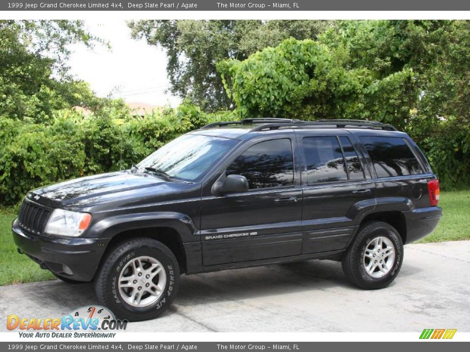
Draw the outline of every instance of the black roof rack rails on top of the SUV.
<instances>
[{"instance_id":1,"label":"black roof rack rails on top of the SUV","mask_svg":"<svg viewBox=\"0 0 470 352\"><path fill-rule=\"evenodd\" d=\"M277 130L282 127L292 128L307 128L307 127L322 127L334 126L335 128L370 128L375 130L384 131L398 131L390 124L384 124L378 121L365 121L365 120L317 120L317 121L303 121L295 119L282 119L282 118L247 118L241 121L222 121L214 122L201 128L208 129L212 127L222 127L228 125L252 125L259 124L250 130L250 132L264 131L264 130Z\"/></svg>"}]
</instances>

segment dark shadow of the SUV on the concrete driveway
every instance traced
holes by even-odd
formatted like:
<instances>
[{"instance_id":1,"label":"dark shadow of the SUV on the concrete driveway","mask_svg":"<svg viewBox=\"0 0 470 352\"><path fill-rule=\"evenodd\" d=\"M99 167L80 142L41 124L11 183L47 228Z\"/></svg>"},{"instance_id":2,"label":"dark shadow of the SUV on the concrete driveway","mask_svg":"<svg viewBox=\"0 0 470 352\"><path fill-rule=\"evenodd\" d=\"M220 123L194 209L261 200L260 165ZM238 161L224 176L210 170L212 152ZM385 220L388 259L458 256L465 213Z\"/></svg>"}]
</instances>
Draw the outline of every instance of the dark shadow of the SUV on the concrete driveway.
<instances>
[{"instance_id":1,"label":"dark shadow of the SUV on the concrete driveway","mask_svg":"<svg viewBox=\"0 0 470 352\"><path fill-rule=\"evenodd\" d=\"M406 266L400 276L415 275L420 268ZM393 286L392 283L391 286ZM30 287L28 287L30 286ZM7 288L7 287L5 287ZM273 264L245 269L182 276L175 306L163 315L171 315L178 308L207 305L224 301L238 301L263 296L288 295L300 291L312 294L316 290L347 296L351 286L343 274L341 263L333 261L308 261ZM0 291L1 296L14 292ZM73 309L97 304L93 283L66 284L60 280L24 284L21 295L24 311L35 311L40 302L55 314L67 314ZM11 299L11 297L5 297ZM2 299L3 300L3 299ZM11 314L0 307L0 314ZM23 309L22 309L23 310Z\"/></svg>"}]
</instances>

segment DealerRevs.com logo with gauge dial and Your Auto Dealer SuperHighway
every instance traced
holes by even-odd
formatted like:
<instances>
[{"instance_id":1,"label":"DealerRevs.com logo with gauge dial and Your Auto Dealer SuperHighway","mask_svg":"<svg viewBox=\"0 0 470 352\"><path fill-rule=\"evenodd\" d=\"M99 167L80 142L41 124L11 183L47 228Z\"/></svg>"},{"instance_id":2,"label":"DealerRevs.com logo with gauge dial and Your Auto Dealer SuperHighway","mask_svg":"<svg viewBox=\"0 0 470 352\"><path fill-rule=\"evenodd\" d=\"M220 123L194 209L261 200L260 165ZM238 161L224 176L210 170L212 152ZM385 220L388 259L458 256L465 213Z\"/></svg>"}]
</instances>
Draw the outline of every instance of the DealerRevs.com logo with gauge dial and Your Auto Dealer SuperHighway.
<instances>
[{"instance_id":1,"label":"DealerRevs.com logo with gauge dial and Your Auto Dealer SuperHighway","mask_svg":"<svg viewBox=\"0 0 470 352\"><path fill-rule=\"evenodd\" d=\"M8 330L18 331L20 337L115 337L116 330L125 330L127 320L118 320L105 307L89 306L72 310L60 318L28 318L10 314L6 320Z\"/></svg>"}]
</instances>

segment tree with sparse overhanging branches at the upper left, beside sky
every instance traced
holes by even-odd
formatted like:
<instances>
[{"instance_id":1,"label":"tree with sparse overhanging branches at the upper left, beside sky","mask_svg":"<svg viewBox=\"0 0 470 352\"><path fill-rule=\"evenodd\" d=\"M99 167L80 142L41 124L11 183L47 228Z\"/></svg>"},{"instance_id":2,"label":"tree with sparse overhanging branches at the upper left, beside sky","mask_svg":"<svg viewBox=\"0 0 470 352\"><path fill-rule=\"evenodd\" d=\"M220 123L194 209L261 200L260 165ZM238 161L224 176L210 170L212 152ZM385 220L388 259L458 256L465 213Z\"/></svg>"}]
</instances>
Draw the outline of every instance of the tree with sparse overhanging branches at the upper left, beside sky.
<instances>
[{"instance_id":1,"label":"tree with sparse overhanging branches at the upper left, beside sky","mask_svg":"<svg viewBox=\"0 0 470 352\"><path fill-rule=\"evenodd\" d=\"M44 122L53 110L87 105L88 84L68 74L68 45L101 43L81 21L0 21L0 116Z\"/></svg>"}]
</instances>

